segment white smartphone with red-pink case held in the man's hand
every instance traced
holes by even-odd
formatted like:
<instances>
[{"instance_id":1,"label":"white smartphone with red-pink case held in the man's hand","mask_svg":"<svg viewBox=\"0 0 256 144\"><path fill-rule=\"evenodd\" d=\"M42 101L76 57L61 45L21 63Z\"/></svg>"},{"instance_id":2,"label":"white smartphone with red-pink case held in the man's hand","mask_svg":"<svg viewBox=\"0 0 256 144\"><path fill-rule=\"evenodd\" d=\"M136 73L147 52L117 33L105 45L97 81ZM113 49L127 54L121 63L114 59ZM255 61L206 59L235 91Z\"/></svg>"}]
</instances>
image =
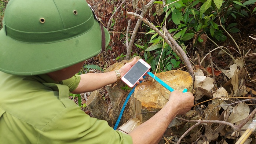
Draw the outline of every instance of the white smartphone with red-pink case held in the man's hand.
<instances>
[{"instance_id":1,"label":"white smartphone with red-pink case held in the man's hand","mask_svg":"<svg viewBox=\"0 0 256 144\"><path fill-rule=\"evenodd\" d=\"M130 88L134 87L136 82L149 71L151 66L143 59L139 59L138 62L132 66L131 69L124 74L121 80L127 84Z\"/></svg>"}]
</instances>

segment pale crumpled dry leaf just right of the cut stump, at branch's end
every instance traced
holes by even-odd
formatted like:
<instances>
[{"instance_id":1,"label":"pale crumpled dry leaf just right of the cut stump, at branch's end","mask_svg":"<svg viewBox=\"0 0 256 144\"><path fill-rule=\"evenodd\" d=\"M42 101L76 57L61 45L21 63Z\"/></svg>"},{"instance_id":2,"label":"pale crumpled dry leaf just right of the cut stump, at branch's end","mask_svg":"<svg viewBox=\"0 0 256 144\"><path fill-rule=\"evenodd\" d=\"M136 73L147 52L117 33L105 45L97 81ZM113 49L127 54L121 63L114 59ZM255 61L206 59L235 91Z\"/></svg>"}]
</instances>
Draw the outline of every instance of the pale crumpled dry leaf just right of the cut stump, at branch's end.
<instances>
[{"instance_id":1,"label":"pale crumpled dry leaf just right of the cut stump, at branch's end","mask_svg":"<svg viewBox=\"0 0 256 144\"><path fill-rule=\"evenodd\" d=\"M195 75L194 88L200 87L210 92L214 87L213 82L213 78Z\"/></svg>"}]
</instances>

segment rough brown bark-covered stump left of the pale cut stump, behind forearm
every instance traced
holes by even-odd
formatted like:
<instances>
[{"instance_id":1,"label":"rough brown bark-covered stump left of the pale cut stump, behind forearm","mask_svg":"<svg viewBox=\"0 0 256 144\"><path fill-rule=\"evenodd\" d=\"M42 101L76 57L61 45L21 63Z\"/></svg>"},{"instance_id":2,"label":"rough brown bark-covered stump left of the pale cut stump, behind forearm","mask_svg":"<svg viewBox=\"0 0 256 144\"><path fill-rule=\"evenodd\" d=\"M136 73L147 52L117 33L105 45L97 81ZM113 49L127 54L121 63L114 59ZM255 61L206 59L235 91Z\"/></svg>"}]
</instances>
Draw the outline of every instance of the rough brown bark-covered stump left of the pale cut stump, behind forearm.
<instances>
[{"instance_id":1,"label":"rough brown bark-covered stump left of the pale cut stump, behind forearm","mask_svg":"<svg viewBox=\"0 0 256 144\"><path fill-rule=\"evenodd\" d=\"M135 57L136 59L139 59L139 56ZM114 71L120 69L125 63L131 62L131 60L122 60L122 62L115 63L108 67L105 70L106 72ZM103 97L98 95L92 95L93 93L96 93L95 91L88 97L88 100L86 102L86 105L88 109L91 111L92 115L95 118L106 120L109 123L109 126L113 127L118 119L118 116L120 114L121 108L124 104L124 101L129 94L129 92L125 92L121 89L121 87L125 87L124 82L119 82L118 84L111 84L107 85L107 93L109 95L109 99L111 103L106 108L106 101L103 99ZM95 100L91 100L95 99ZM105 103L105 104L104 104ZM98 104L101 104L99 106L96 106ZM97 108L98 110L95 110ZM105 117L106 116L106 117ZM134 94L130 97L128 103L126 104L124 113L122 114L122 118L120 120L119 125L123 125L126 123L129 119L135 116L135 99Z\"/></svg>"}]
</instances>

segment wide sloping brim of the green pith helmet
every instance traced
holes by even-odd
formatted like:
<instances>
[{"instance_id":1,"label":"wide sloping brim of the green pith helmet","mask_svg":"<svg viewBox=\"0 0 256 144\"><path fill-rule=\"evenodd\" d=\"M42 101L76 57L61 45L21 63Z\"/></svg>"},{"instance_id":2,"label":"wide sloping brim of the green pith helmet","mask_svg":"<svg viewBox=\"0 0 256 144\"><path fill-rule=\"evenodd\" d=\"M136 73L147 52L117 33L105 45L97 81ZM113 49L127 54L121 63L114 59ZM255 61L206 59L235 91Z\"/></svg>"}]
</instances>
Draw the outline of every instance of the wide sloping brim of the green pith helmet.
<instances>
[{"instance_id":1,"label":"wide sloping brim of the green pith helmet","mask_svg":"<svg viewBox=\"0 0 256 144\"><path fill-rule=\"evenodd\" d=\"M110 35L105 27L104 31L107 47ZM56 43L23 43L6 36L3 29L0 30L0 39L0 70L15 75L57 71L98 55L102 47L97 21L87 33Z\"/></svg>"}]
</instances>

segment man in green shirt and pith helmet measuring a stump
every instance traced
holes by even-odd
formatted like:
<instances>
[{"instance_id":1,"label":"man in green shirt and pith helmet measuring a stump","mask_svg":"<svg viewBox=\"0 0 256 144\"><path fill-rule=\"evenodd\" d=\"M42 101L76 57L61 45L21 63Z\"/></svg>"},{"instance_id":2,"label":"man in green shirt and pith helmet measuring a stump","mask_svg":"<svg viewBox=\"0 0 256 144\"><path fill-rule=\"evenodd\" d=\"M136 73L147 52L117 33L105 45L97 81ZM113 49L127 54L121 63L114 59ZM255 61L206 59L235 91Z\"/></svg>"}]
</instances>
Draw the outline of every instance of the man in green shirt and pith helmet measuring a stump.
<instances>
[{"instance_id":1,"label":"man in green shirt and pith helmet measuring a stump","mask_svg":"<svg viewBox=\"0 0 256 144\"><path fill-rule=\"evenodd\" d=\"M174 91L166 106L129 134L90 118L69 93L119 81L135 63L75 75L102 52L109 33L84 0L10 0L0 30L0 143L154 144L172 119L193 106Z\"/></svg>"}]
</instances>

